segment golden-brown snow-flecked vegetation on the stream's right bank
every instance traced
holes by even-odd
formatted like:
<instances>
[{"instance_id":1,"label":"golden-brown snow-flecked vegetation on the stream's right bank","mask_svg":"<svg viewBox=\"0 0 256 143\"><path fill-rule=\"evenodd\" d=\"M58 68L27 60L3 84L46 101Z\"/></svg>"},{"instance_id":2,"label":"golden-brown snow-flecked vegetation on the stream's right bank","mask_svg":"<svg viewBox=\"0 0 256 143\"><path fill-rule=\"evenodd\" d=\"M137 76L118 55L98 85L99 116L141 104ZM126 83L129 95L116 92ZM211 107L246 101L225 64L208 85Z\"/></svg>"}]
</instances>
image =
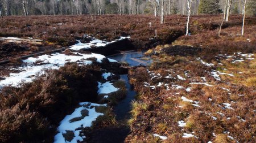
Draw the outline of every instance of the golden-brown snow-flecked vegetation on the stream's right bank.
<instances>
[{"instance_id":1,"label":"golden-brown snow-flecked vegetation on the stream's right bank","mask_svg":"<svg viewBox=\"0 0 256 143\"><path fill-rule=\"evenodd\" d=\"M130 82L138 91L137 102L147 105L147 109L143 110L141 106L136 106L131 111L136 114L133 114L130 120L131 134L126 138L127 142L253 142L255 84L252 82L255 83L255 59L242 63L217 59L217 61L222 61L221 66L213 60L213 57L216 56L215 52L208 51L208 54L205 54L207 53L206 49L203 49L195 55L180 57L174 55L175 48L165 47L162 50L165 53L152 56L154 63L150 67L138 67L129 72ZM228 47L216 48L216 50L223 49L228 49ZM181 48L181 50L183 49ZM230 49L230 51L236 50ZM238 51L246 53L250 50L240 49L236 52ZM255 49L253 52L255 53ZM176 54L179 54L179 51ZM212 59L211 62L217 65L215 64L214 67L204 66L195 60L199 56L205 57L204 60ZM222 80L218 81L209 75L208 71L222 71L224 68L227 70L223 72L233 73L234 76L221 76ZM159 73L161 77L152 79L147 69L154 72L155 75ZM188 76L185 75L185 72ZM238 72L240 73L238 74ZM164 78L168 73L176 77L176 80ZM177 75L185 77L186 80L177 80ZM201 77L205 77L207 81ZM249 77L251 80L246 80ZM181 85L184 88L166 90L164 86L156 86L156 89L151 89L144 86L144 82L155 86L159 82L163 82L170 88L172 85ZM189 84L204 82L213 86ZM190 92L185 90L188 87L191 87ZM192 101L199 101L200 107L183 101L181 96ZM226 109L223 103L230 103L232 109ZM184 120L185 127L178 126L180 120ZM160 140L153 137L153 133L167 136L168 139ZM183 133L192 133L198 138L184 138L182 137ZM214 136L213 133L217 136Z\"/></svg>"}]
</instances>

